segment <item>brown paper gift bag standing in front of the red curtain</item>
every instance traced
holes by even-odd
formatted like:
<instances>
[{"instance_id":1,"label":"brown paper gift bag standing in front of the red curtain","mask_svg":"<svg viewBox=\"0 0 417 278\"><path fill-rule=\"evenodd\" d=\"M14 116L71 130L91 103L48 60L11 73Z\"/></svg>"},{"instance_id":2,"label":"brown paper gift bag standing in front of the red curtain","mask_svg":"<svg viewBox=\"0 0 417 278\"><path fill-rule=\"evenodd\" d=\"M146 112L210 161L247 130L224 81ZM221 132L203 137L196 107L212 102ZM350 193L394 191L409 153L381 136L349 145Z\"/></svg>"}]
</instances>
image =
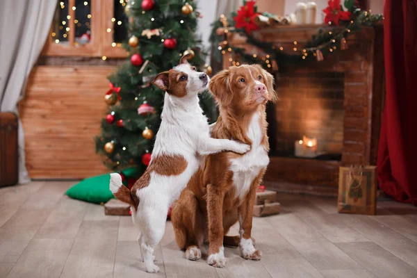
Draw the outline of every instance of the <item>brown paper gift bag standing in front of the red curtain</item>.
<instances>
[{"instance_id":1,"label":"brown paper gift bag standing in front of the red curtain","mask_svg":"<svg viewBox=\"0 0 417 278\"><path fill-rule=\"evenodd\" d=\"M375 215L377 209L377 167L340 167L338 212Z\"/></svg>"}]
</instances>

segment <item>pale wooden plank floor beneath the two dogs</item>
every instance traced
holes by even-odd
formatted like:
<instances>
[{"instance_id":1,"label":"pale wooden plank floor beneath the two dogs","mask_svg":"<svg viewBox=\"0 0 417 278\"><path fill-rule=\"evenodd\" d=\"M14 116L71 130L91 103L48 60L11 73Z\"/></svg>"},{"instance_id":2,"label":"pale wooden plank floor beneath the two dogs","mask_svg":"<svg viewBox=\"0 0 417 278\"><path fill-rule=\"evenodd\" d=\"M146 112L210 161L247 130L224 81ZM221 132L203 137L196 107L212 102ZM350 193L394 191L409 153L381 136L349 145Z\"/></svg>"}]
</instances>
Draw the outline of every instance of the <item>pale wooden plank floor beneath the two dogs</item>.
<instances>
[{"instance_id":1,"label":"pale wooden plank floor beneath the two dogs","mask_svg":"<svg viewBox=\"0 0 417 278\"><path fill-rule=\"evenodd\" d=\"M378 215L347 215L335 199L281 194L280 215L254 218L261 261L236 248L223 269L206 254L187 261L167 222L151 275L131 218L66 197L72 183L0 188L0 277L417 277L417 207L383 200Z\"/></svg>"}]
</instances>

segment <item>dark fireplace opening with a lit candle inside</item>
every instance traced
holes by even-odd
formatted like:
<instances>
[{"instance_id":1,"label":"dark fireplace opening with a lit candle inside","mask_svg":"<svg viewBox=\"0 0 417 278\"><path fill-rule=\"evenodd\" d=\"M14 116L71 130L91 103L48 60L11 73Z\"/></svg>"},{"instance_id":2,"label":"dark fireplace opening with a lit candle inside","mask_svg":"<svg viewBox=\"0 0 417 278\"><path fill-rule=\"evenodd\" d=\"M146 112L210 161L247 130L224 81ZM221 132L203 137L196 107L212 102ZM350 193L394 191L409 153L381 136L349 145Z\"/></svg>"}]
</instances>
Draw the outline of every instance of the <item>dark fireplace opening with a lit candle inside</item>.
<instances>
[{"instance_id":1,"label":"dark fireplace opening with a lit candle inside","mask_svg":"<svg viewBox=\"0 0 417 278\"><path fill-rule=\"evenodd\" d=\"M279 74L272 156L341 161L345 74Z\"/></svg>"}]
</instances>

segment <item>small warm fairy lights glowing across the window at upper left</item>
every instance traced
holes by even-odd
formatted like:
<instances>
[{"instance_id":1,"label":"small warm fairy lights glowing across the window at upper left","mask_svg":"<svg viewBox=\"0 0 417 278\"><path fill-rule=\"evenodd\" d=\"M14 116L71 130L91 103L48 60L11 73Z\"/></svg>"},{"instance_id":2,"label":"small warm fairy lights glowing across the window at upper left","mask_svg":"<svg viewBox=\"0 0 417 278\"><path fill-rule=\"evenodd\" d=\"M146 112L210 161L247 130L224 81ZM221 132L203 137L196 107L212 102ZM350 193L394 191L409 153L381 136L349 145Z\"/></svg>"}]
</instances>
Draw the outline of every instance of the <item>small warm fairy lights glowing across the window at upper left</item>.
<instances>
[{"instance_id":1,"label":"small warm fairy lights glowing across the window at upper left","mask_svg":"<svg viewBox=\"0 0 417 278\"><path fill-rule=\"evenodd\" d=\"M120 6L122 6L124 8L126 6L126 3L128 1L129 0L120 0L119 1L119 4L120 4ZM132 2L132 3L134 3L134 2ZM65 5L66 5L66 3L64 1L60 1L58 3L58 7L60 7L61 10L64 10L65 9ZM90 8L89 1L84 1L83 2L83 6L85 6L86 8ZM57 7L57 10L58 10L58 7ZM76 6L72 6L71 9L73 11L76 11ZM84 24L88 28L88 30L90 30L91 29L91 24L90 24L89 21L92 18L91 13L88 13L88 15L86 17L87 17L87 20L85 20L85 23ZM116 17L111 17L111 19L109 19L109 20L112 22L112 24L117 24L118 26L120 26L120 25L123 24L122 20L117 19ZM82 26L82 23L81 22L83 22L83 20L81 18L74 19L74 21L71 22L71 15L66 15L64 18L61 18L60 20L56 20L56 21L59 24L58 25L58 29L60 31L65 30L65 33L63 33L62 38L63 39L66 39L66 40L68 40L68 38L70 36L70 30L72 28L71 25L74 24L73 26L81 27ZM107 28L106 29L106 32L107 33L112 33L113 31L114 31L113 28ZM51 32L51 37L52 37L52 39L54 40L54 42L56 44L59 44L60 42L62 42L62 40L60 40L60 38L59 38L59 35L58 35L58 31L57 30L53 30ZM74 42L74 47L79 46L79 44L80 44L79 42ZM112 47L122 47L122 43L120 43L120 42L112 42L111 43L111 46ZM104 58L103 60L106 60L106 59Z\"/></svg>"}]
</instances>

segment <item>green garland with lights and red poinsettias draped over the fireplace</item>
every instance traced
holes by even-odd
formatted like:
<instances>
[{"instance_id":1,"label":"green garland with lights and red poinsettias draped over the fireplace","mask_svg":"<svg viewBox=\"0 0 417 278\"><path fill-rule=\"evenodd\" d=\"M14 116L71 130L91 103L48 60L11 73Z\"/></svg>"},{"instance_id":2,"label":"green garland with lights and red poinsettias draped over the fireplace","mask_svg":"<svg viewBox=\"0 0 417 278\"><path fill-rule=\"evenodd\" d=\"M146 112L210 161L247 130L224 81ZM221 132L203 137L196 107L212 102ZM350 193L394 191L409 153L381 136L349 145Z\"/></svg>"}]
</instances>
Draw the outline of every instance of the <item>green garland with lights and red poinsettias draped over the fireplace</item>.
<instances>
[{"instance_id":1,"label":"green garland with lights and red poinsettias draped over the fireplace","mask_svg":"<svg viewBox=\"0 0 417 278\"><path fill-rule=\"evenodd\" d=\"M252 36L252 31L259 30L265 26L286 25L291 22L288 17L278 17L269 13L258 13L255 5L256 1L244 1L238 12L231 13L229 19L221 15L212 26L210 36L211 42L218 45L218 52L215 58L221 60L226 52L231 53L229 61L231 65L243 63L257 63L265 69L276 72L279 68L288 64L301 63L304 60L316 59L324 60L325 56L332 54L337 49L347 49L347 37L356 31L360 31L362 26L375 26L377 22L384 19L383 15L374 15L366 10L361 10L354 0L346 0L344 8L340 0L329 0L329 6L323 10L325 13L325 23L335 26L332 31L325 28L318 28L317 35L313 35L311 41L306 42L300 47L294 42L293 54L288 54L283 47L275 47L275 44L257 40ZM265 18L268 19L265 23ZM239 33L247 37L247 43L252 44L263 51L264 56L247 54L245 49L233 47L227 41L231 33ZM339 46L339 47L338 47Z\"/></svg>"}]
</instances>

